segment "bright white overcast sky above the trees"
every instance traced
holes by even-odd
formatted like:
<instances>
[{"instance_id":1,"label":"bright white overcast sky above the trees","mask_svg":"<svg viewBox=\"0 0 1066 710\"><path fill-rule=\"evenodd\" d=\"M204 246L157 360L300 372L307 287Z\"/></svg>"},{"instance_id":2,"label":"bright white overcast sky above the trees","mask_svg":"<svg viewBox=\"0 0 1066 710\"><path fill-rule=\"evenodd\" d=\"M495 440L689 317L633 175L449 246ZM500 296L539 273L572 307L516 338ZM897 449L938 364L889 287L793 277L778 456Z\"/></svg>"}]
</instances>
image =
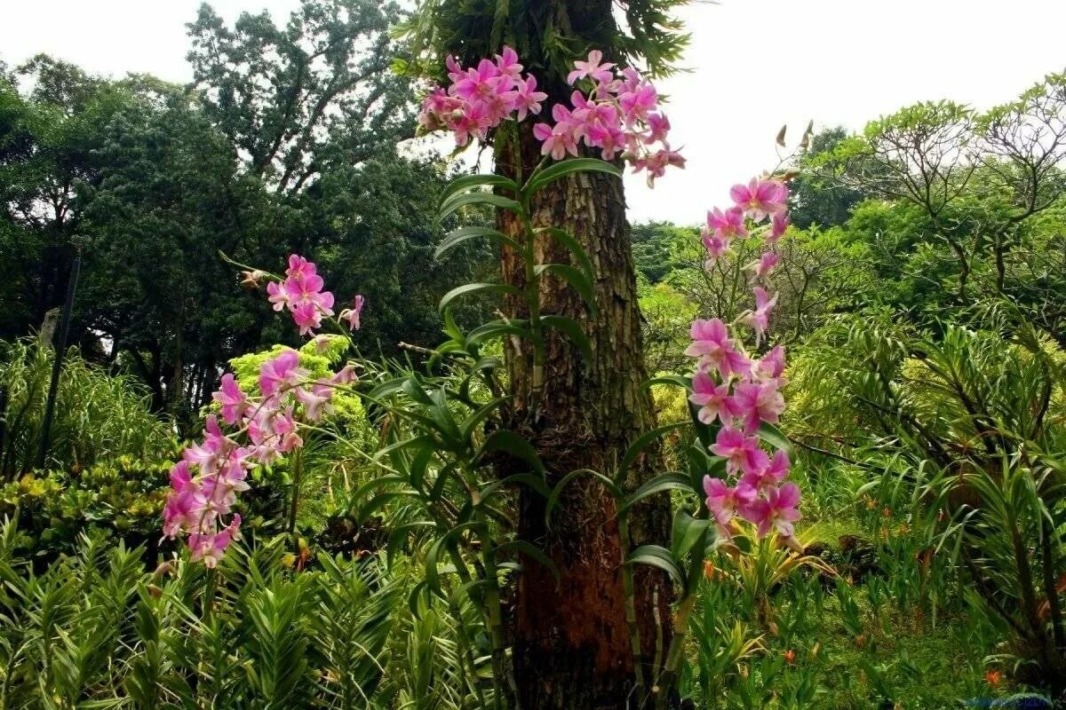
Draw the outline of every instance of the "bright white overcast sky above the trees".
<instances>
[{"instance_id":1,"label":"bright white overcast sky above the trees","mask_svg":"<svg viewBox=\"0 0 1066 710\"><path fill-rule=\"evenodd\" d=\"M190 79L184 23L200 0L0 0L0 59L37 52L112 77ZM228 20L296 0L215 0ZM860 129L925 99L986 108L1066 68L1063 0L721 0L694 3L690 73L660 84L688 159L655 191L628 181L634 220L694 222L733 182L773 167L774 135Z\"/></svg>"}]
</instances>

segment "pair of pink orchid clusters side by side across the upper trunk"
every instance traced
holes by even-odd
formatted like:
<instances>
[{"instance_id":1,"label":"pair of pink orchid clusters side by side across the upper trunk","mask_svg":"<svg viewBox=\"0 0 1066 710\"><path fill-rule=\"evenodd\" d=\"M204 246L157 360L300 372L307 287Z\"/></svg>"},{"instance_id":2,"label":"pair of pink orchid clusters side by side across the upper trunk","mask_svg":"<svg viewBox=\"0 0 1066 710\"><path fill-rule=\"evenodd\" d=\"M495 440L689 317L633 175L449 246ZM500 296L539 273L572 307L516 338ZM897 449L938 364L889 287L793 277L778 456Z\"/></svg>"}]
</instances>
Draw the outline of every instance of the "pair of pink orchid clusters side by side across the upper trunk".
<instances>
[{"instance_id":1,"label":"pair of pink orchid clusters side by side across the upper trunk","mask_svg":"<svg viewBox=\"0 0 1066 710\"><path fill-rule=\"evenodd\" d=\"M562 160L578 155L584 144L598 148L605 161L620 155L634 172L647 170L649 184L667 167L683 167L684 159L667 142L669 119L659 106L656 87L635 69L618 70L602 59L602 52L594 50L586 61L574 63L567 83L588 90L575 90L570 106L554 104L553 123L533 127L542 152ZM510 47L495 61L482 60L477 68L464 68L449 56L447 68L451 84L425 98L419 123L426 131L451 131L459 146L471 138L484 141L503 120L538 115L548 98L536 90L536 77L522 73L518 55Z\"/></svg>"}]
</instances>

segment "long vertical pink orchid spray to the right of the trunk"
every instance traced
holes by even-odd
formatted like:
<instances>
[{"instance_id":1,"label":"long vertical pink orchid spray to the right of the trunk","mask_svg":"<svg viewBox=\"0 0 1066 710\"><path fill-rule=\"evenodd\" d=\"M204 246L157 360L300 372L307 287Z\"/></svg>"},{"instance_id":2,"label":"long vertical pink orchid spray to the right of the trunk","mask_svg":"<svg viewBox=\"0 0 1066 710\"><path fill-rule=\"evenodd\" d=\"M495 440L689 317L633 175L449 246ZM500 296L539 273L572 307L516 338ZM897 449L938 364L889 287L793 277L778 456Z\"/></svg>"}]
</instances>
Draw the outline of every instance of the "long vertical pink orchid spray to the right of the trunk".
<instances>
[{"instance_id":1,"label":"long vertical pink orchid spray to the right of the trunk","mask_svg":"<svg viewBox=\"0 0 1066 710\"><path fill-rule=\"evenodd\" d=\"M788 187L777 180L756 179L733 185L730 196L732 207L708 213L702 241L708 266L728 253L734 238L762 238L770 247L748 265L755 309L739 319L752 329L758 347L777 304L777 296L770 296L762 284L777 265L774 248L788 227ZM769 226L759 227L768 219ZM685 354L698 361L689 400L699 408L700 422L721 424L710 450L726 461L725 479L704 477L707 508L718 532L731 540L738 530L736 522L744 519L756 526L760 539L776 530L787 544L796 546L792 524L801 517L800 489L782 482L789 474L788 453L777 450L771 456L758 436L762 423L777 424L785 409L780 393L787 382L785 349L778 345L762 358L752 359L734 328L720 318L695 320L691 335L693 343Z\"/></svg>"}]
</instances>

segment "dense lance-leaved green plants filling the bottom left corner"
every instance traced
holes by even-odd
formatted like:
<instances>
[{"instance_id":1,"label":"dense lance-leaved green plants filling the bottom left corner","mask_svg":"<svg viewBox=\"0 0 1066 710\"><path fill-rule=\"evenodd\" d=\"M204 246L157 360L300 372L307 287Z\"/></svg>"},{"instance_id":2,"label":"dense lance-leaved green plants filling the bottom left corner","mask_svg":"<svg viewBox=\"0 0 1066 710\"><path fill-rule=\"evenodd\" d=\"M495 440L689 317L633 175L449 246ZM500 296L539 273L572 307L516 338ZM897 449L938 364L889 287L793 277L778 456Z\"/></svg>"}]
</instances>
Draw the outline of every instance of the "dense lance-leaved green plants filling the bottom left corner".
<instances>
[{"instance_id":1,"label":"dense lance-leaved green plants filling the bottom left corner","mask_svg":"<svg viewBox=\"0 0 1066 710\"><path fill-rule=\"evenodd\" d=\"M297 572L284 547L235 549L216 571L83 536L43 572L0 539L4 707L366 708L384 683L403 577L376 559L321 556Z\"/></svg>"}]
</instances>

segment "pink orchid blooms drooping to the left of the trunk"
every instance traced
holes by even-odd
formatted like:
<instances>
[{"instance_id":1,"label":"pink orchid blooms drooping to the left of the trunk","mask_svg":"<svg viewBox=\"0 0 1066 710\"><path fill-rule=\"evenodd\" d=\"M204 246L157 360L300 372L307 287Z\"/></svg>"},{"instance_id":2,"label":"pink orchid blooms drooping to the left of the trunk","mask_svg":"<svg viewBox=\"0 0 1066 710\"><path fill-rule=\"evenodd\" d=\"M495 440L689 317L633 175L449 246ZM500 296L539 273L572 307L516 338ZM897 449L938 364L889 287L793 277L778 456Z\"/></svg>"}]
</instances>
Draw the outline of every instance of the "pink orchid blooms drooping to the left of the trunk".
<instances>
[{"instance_id":1,"label":"pink orchid blooms drooping to the left of the trunk","mask_svg":"<svg viewBox=\"0 0 1066 710\"><path fill-rule=\"evenodd\" d=\"M301 334L321 326L333 315L334 296L323 292L316 265L302 257L289 258L286 278L266 286L269 300L280 311L288 307ZM265 277L249 271L245 280ZM352 330L359 327L362 297L339 318ZM323 336L319 336L323 337ZM189 535L193 561L213 567L226 548L240 539L241 516L233 512L237 494L248 490L247 475L256 466L266 466L304 445L301 424L319 422L332 411L330 399L339 386L355 381L349 364L330 377L311 379L300 366L295 350L284 350L259 368L259 393L241 390L232 374L222 377L212 398L223 423L235 430L226 433L214 414L207 417L204 439L187 447L171 469L171 492L163 508L163 534Z\"/></svg>"}]
</instances>

